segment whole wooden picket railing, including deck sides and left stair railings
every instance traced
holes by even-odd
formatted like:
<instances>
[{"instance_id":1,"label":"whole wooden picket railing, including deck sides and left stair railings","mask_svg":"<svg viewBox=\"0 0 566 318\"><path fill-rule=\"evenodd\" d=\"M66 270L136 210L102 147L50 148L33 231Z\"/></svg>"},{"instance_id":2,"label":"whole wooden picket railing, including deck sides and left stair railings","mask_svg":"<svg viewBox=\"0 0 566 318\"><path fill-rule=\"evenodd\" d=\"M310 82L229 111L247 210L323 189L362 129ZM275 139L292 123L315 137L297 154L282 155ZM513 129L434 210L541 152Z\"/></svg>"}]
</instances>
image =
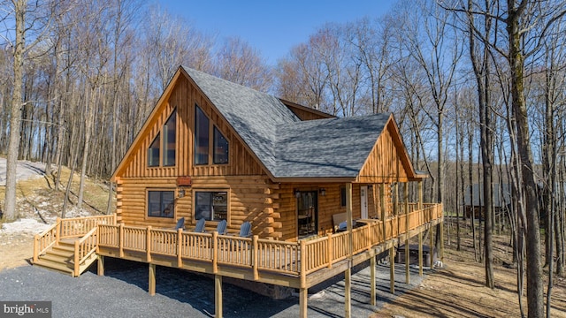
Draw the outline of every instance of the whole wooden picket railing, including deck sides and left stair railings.
<instances>
[{"instance_id":1,"label":"whole wooden picket railing, including deck sides and left stair railings","mask_svg":"<svg viewBox=\"0 0 566 318\"><path fill-rule=\"evenodd\" d=\"M269 271L300 277L303 284L310 273L332 268L352 255L369 251L386 240L441 218L442 204L426 204L423 209L409 208L408 211L385 221L364 220L364 225L351 232L299 242L126 226L116 224L115 215L57 219L50 229L35 236L34 261L60 239L80 238L74 242L75 276L84 270L85 261L92 261L93 254L110 248L117 251L119 257L134 253L147 262L158 256L172 257L179 267L184 261L204 261L211 265L213 273L218 272L219 266L228 265L251 270L255 279L260 271Z\"/></svg>"}]
</instances>

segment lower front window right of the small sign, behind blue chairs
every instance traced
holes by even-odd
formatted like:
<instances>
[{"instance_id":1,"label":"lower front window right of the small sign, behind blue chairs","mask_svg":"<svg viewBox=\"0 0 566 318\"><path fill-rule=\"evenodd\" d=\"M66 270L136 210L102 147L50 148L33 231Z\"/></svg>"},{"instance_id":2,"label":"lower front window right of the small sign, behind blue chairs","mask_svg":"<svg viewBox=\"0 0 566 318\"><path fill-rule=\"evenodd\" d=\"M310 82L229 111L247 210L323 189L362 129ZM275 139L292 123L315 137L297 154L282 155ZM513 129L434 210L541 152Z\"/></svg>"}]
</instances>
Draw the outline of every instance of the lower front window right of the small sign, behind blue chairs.
<instances>
[{"instance_id":1,"label":"lower front window right of the small sign, behind blue chairs","mask_svg":"<svg viewBox=\"0 0 566 318\"><path fill-rule=\"evenodd\" d=\"M195 219L221 221L228 218L228 193L195 192Z\"/></svg>"}]
</instances>

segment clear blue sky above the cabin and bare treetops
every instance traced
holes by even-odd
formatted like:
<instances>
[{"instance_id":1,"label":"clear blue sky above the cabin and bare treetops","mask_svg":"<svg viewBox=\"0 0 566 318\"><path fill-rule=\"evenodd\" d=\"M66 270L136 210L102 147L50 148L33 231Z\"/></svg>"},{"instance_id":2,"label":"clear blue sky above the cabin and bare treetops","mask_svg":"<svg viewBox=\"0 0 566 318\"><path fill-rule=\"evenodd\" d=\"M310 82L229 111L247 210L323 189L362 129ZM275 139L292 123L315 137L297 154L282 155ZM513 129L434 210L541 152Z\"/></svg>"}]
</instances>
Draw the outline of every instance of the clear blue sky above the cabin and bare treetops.
<instances>
[{"instance_id":1,"label":"clear blue sky above the cabin and bare treetops","mask_svg":"<svg viewBox=\"0 0 566 318\"><path fill-rule=\"evenodd\" d=\"M294 45L306 42L326 22L344 23L380 17L394 0L157 0L172 14L197 29L230 36L258 49L269 64L285 57Z\"/></svg>"}]
</instances>

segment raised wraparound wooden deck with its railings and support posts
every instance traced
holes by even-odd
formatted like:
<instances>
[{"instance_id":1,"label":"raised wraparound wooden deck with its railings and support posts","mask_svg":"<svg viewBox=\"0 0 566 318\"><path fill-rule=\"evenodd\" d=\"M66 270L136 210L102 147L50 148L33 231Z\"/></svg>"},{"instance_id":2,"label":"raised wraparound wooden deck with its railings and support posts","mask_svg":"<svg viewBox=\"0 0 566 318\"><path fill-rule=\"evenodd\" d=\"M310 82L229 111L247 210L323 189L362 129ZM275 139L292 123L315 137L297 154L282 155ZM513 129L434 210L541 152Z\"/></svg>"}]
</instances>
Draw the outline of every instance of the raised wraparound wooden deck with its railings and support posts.
<instances>
[{"instance_id":1,"label":"raised wraparound wooden deck with its railings and support posts","mask_svg":"<svg viewBox=\"0 0 566 318\"><path fill-rule=\"evenodd\" d=\"M409 213L389 218L385 223L359 220L365 225L351 232L299 242L134 227L117 224L114 216L63 219L35 237L34 262L57 245L59 239L74 237L77 239L73 263L77 265L73 276L79 276L85 268L83 260L91 259L96 253L99 275L103 275L103 256L149 263L151 294L155 293L155 266L159 265L212 274L216 277L215 284L220 286L221 277L226 276L297 288L301 291L302 313L306 313L308 288L348 272L363 261L374 263L375 255L387 250L393 256L393 247L401 241L407 243L411 237L418 235L422 246L420 234L442 222L441 203L407 210ZM393 292L393 283L391 288Z\"/></svg>"}]
</instances>

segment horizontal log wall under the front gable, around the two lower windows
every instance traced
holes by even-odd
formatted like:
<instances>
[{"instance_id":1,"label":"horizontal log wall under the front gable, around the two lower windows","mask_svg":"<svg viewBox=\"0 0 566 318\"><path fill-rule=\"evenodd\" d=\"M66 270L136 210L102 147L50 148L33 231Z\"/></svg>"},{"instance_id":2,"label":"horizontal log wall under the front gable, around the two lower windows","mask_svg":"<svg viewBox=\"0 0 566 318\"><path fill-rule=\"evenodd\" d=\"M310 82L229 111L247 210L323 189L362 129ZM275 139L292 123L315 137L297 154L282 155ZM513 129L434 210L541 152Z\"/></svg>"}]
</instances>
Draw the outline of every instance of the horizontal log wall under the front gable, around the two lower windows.
<instances>
[{"instance_id":1,"label":"horizontal log wall under the front gable, around the two lower windows","mask_svg":"<svg viewBox=\"0 0 566 318\"><path fill-rule=\"evenodd\" d=\"M195 227L193 194L195 191L226 191L228 200L228 231L239 233L241 223L252 224L252 232L261 238L279 238L282 224L273 209L273 201L279 198L277 188L266 176L198 177L178 197L176 178L124 178L119 179L117 211L121 223L134 226L173 228L180 217L185 217L185 228ZM175 212L172 218L149 217L147 212L148 190L175 191ZM218 222L206 223L208 231L214 231Z\"/></svg>"}]
</instances>

